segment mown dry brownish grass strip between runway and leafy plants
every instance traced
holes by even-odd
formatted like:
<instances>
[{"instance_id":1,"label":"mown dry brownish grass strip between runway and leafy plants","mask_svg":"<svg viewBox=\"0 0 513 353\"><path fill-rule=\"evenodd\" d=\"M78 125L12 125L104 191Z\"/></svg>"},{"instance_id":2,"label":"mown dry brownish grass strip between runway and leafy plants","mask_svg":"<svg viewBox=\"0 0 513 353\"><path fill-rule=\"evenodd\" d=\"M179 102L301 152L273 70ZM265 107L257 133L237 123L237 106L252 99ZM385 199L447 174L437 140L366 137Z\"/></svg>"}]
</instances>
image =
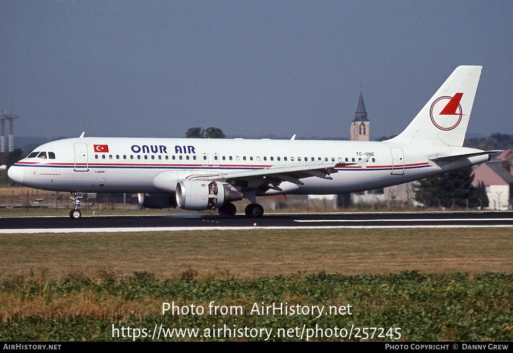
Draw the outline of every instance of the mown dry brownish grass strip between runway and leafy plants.
<instances>
[{"instance_id":1,"label":"mown dry brownish grass strip between runway and leafy plants","mask_svg":"<svg viewBox=\"0 0 513 353\"><path fill-rule=\"evenodd\" d=\"M230 274L513 272L513 229L245 230L2 235L0 278L80 273L157 278Z\"/></svg>"}]
</instances>

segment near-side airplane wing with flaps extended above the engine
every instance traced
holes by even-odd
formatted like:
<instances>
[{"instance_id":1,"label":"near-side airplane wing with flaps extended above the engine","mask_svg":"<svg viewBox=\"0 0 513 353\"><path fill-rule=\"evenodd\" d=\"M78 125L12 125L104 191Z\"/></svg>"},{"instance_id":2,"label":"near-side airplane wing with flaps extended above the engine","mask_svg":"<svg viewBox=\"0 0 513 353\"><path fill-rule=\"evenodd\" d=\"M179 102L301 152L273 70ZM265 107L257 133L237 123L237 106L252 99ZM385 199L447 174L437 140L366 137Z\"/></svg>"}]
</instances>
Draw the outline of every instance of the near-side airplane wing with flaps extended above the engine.
<instances>
[{"instance_id":1,"label":"near-side airplane wing with flaps extended above the engine","mask_svg":"<svg viewBox=\"0 0 513 353\"><path fill-rule=\"evenodd\" d=\"M345 165L354 165L356 163L343 162L325 162L314 161L294 164L273 165L269 168L256 170L245 170L228 173L192 175L188 179L198 180L219 180L223 179L227 182L248 182L249 187L257 188L258 186L268 185L269 189L281 190L278 184L283 181L289 181L294 184L303 185L300 180L307 177L318 177L322 179L331 179L331 173L337 173L336 167L344 167Z\"/></svg>"}]
</instances>

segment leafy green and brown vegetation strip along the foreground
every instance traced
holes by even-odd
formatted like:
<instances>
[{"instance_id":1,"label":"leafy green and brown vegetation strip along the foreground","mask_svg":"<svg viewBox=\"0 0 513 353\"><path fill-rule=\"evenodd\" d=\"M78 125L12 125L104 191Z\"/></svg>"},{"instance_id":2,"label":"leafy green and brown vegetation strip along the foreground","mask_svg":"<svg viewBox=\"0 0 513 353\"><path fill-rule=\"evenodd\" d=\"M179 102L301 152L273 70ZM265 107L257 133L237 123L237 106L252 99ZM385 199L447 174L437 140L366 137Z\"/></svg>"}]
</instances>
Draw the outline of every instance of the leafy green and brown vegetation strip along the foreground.
<instances>
[{"instance_id":1,"label":"leafy green and brown vegetation strip along the foreground","mask_svg":"<svg viewBox=\"0 0 513 353\"><path fill-rule=\"evenodd\" d=\"M157 280L149 273L97 278L70 273L49 281L44 274L12 277L0 285L1 341L110 341L115 328L227 327L315 328L400 327L399 341L511 341L512 274L421 274L344 276L318 273L255 279L217 275L198 278L188 269L180 278ZM207 315L215 305L241 306L243 314ZM202 306L203 315L162 315L163 302ZM254 303L351 305L351 315L250 315ZM254 314L254 313L253 313ZM215 325L215 326L213 326ZM235 325L235 326L233 326ZM151 337L137 340L151 341ZM160 340L263 340L257 338L163 338ZM270 340L298 341L297 337ZM306 340L303 338L303 340ZM310 340L346 341L343 338ZM359 341L360 338L351 340ZM389 337L374 341L391 341Z\"/></svg>"}]
</instances>

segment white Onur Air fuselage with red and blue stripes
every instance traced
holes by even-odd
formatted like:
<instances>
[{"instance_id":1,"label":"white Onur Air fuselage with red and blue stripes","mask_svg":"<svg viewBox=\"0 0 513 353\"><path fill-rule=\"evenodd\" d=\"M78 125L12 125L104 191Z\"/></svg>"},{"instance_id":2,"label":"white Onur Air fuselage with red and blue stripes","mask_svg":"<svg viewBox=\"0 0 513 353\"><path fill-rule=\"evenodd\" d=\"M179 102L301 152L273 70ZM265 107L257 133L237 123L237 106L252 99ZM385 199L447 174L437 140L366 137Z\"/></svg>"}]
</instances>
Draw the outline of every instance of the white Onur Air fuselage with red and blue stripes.
<instances>
[{"instance_id":1,"label":"white Onur Air fuselage with red and blue stripes","mask_svg":"<svg viewBox=\"0 0 513 353\"><path fill-rule=\"evenodd\" d=\"M104 151L96 151L102 149ZM310 176L301 179L302 185L281 182L281 191L255 190L256 196L335 194L383 188L488 160L488 155L444 163L430 160L476 151L437 144L425 146L386 141L87 137L43 144L34 152L46 152L46 158L32 153L32 157L18 161L9 169L9 177L19 184L43 190L162 193L162 188L155 188L154 179L169 171L175 171L179 181L191 175L258 170L312 161L354 162L336 167L337 172L330 174L332 179ZM169 185L169 190L174 188L175 185Z\"/></svg>"}]
</instances>

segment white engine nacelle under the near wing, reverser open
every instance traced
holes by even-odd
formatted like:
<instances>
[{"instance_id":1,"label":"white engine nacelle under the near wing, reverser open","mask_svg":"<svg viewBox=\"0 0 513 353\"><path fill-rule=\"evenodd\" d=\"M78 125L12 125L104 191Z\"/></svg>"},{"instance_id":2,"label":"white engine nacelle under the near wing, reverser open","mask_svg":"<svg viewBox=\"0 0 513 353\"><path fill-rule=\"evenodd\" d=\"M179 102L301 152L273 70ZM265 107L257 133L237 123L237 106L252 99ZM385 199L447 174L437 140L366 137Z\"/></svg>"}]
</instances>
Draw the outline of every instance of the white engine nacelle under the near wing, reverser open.
<instances>
[{"instance_id":1,"label":"white engine nacelle under the near wing, reverser open","mask_svg":"<svg viewBox=\"0 0 513 353\"><path fill-rule=\"evenodd\" d=\"M242 200L242 193L220 181L182 180L176 184L176 205L189 211L218 209Z\"/></svg>"}]
</instances>

